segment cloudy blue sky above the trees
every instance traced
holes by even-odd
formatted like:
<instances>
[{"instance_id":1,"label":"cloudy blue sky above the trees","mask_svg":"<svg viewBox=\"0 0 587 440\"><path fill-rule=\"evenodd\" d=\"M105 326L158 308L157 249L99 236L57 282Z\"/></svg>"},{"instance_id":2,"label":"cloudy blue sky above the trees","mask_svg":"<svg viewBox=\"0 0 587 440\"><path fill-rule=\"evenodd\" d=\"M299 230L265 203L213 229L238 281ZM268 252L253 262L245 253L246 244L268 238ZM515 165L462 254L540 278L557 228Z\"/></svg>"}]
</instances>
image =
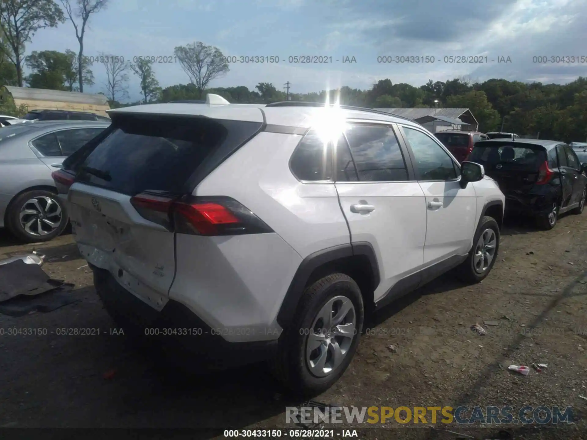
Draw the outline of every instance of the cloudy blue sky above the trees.
<instances>
[{"instance_id":1,"label":"cloudy blue sky above the trees","mask_svg":"<svg viewBox=\"0 0 587 440\"><path fill-rule=\"evenodd\" d=\"M172 56L176 46L202 41L227 56L279 57L274 64L233 63L211 86L279 88L289 81L296 93L367 89L384 78L414 86L458 76L566 83L587 76L586 19L587 0L110 0L90 19L85 55L132 61ZM39 31L28 45L28 52L49 49L77 51L70 22ZM290 56L332 57L332 63L301 65ZM392 62L378 63L382 56ZM396 56L429 56L434 63L397 63ZM487 57L487 63L444 62L449 56ZM541 65L536 56L582 56L583 64ZM356 62L343 63L346 57ZM93 70L96 85L85 91L100 92L104 67ZM179 63L154 70L163 87L189 81ZM132 75L129 92L139 99Z\"/></svg>"}]
</instances>

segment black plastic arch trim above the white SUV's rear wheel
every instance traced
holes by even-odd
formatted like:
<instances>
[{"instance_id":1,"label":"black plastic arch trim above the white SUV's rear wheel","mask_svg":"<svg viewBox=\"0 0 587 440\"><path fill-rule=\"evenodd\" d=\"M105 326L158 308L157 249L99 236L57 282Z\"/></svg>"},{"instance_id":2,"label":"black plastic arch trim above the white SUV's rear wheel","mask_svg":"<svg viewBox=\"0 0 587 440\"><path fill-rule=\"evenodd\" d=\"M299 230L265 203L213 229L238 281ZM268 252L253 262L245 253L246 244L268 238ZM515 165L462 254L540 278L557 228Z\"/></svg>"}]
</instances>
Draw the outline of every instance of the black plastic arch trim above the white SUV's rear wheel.
<instances>
[{"instance_id":1,"label":"black plastic arch trim above the white SUV's rear wheel","mask_svg":"<svg viewBox=\"0 0 587 440\"><path fill-rule=\"evenodd\" d=\"M277 322L282 329L286 329L295 316L299 300L313 272L328 263L352 256L365 256L372 270L372 285L375 289L380 283L379 265L375 249L369 242L345 243L322 249L306 256L298 266L284 300L277 314Z\"/></svg>"}]
</instances>

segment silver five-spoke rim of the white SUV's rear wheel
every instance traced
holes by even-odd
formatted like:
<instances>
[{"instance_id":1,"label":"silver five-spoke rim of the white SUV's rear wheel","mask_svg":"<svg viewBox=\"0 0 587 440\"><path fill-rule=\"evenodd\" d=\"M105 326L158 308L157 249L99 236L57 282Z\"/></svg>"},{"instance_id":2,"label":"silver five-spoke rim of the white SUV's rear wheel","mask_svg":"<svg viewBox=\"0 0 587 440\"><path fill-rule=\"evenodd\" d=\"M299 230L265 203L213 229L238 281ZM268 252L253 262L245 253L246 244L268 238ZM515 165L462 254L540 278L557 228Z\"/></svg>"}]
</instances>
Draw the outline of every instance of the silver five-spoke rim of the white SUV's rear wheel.
<instances>
[{"instance_id":1,"label":"silver five-spoke rim of the white SUV's rear wheel","mask_svg":"<svg viewBox=\"0 0 587 440\"><path fill-rule=\"evenodd\" d=\"M356 337L355 306L346 296L328 300L306 337L306 363L313 375L325 377L345 359Z\"/></svg>"}]
</instances>

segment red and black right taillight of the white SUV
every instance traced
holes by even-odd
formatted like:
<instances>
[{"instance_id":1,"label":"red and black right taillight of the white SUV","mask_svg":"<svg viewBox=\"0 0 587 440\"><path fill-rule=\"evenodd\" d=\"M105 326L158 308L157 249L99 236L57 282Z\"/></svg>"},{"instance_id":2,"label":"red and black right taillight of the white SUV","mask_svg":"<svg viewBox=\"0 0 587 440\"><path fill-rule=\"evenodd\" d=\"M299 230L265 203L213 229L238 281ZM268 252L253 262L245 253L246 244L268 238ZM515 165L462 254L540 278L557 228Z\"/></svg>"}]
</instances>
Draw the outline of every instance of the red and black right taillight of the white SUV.
<instances>
[{"instance_id":1,"label":"red and black right taillight of the white SUV","mask_svg":"<svg viewBox=\"0 0 587 440\"><path fill-rule=\"evenodd\" d=\"M191 235L272 232L261 219L230 197L183 197L144 192L130 199L139 214L170 231Z\"/></svg>"}]
</instances>

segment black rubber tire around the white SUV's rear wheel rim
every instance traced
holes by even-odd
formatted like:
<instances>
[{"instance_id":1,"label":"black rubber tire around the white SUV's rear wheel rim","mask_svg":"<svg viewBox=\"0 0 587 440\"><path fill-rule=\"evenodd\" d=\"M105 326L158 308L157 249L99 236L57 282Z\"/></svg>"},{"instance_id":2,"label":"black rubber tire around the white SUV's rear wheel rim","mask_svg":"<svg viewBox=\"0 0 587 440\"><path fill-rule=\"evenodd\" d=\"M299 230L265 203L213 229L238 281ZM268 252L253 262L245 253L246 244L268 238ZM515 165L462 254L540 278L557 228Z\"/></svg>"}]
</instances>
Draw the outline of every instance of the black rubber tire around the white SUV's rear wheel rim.
<instances>
[{"instance_id":1,"label":"black rubber tire around the white SUV's rear wheel rim","mask_svg":"<svg viewBox=\"0 0 587 440\"><path fill-rule=\"evenodd\" d=\"M355 331L342 362L323 377L311 373L306 359L306 341L317 314L335 297L343 296L355 310ZM339 300L335 300L336 301ZM328 390L345 373L359 344L363 330L363 297L355 280L343 273L325 276L306 287L291 325L279 338L278 354L272 363L276 378L295 395L313 397ZM330 334L330 333L328 333Z\"/></svg>"}]
</instances>

